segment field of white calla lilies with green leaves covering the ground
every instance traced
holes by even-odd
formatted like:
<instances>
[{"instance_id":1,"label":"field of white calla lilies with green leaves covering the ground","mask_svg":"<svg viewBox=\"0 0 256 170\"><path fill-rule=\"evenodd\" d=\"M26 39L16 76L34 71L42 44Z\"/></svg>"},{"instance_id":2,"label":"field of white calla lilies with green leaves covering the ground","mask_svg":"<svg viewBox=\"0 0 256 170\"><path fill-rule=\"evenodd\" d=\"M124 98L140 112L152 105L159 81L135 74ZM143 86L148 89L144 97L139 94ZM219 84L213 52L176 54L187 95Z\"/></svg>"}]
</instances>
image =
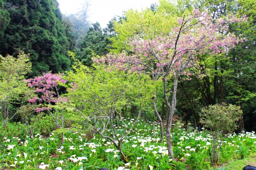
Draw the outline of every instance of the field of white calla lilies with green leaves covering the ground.
<instances>
[{"instance_id":1,"label":"field of white calla lilies with green leaves covering the ground","mask_svg":"<svg viewBox=\"0 0 256 170\"><path fill-rule=\"evenodd\" d=\"M96 170L102 167L110 170L204 170L211 166L212 137L207 130L187 132L176 123L171 131L175 155L172 160L166 142L159 142L159 126L156 125L155 138L152 129L150 122L141 120L124 140L122 149L129 161L126 164L120 161L119 150L99 135L88 140L84 133L68 132L65 144L61 144L61 135L54 133L47 138L40 134L33 139L26 136L25 141L15 136L5 137L0 145L1 167L19 170ZM122 129L117 131L122 133ZM219 142L222 142L220 164L242 159L256 151L254 132L229 134Z\"/></svg>"}]
</instances>

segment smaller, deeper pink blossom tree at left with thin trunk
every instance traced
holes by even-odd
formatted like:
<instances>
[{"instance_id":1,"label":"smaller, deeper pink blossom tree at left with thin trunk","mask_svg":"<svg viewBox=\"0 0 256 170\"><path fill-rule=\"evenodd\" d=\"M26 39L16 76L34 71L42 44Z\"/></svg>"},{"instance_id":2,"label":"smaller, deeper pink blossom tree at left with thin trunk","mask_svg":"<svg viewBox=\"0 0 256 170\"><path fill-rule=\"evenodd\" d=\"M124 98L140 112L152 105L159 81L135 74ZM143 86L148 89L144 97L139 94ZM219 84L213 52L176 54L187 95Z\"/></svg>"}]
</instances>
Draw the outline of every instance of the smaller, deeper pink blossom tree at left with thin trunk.
<instances>
[{"instance_id":1,"label":"smaller, deeper pink blossom tree at left with thin trunk","mask_svg":"<svg viewBox=\"0 0 256 170\"><path fill-rule=\"evenodd\" d=\"M67 80L62 79L60 74L47 73L43 76L35 77L34 79L26 80L29 87L35 88L35 93L38 94L34 98L30 99L29 102L35 103L40 102L40 108L36 108L36 112L47 111L58 128L64 128L64 115L63 109L61 112L55 108L56 103L67 102L67 99L59 94L59 85L65 84ZM54 111L54 112L53 112ZM64 133L62 132L62 143L64 144Z\"/></svg>"}]
</instances>

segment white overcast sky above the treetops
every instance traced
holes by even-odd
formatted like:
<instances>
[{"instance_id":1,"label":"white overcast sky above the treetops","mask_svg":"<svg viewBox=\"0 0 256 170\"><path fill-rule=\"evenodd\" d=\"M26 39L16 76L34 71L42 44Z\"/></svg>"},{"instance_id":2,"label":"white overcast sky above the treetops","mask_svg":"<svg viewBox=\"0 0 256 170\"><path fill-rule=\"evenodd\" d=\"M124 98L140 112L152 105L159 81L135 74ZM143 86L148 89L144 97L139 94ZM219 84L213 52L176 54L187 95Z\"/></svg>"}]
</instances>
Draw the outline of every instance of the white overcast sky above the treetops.
<instances>
[{"instance_id":1,"label":"white overcast sky above the treetops","mask_svg":"<svg viewBox=\"0 0 256 170\"><path fill-rule=\"evenodd\" d=\"M81 3L84 0L58 0L59 8L63 14L74 14L79 11ZM158 0L91 0L90 1L90 21L98 21L102 28L105 28L109 20L114 15L122 15L122 11L150 7L151 3L157 3Z\"/></svg>"}]
</instances>

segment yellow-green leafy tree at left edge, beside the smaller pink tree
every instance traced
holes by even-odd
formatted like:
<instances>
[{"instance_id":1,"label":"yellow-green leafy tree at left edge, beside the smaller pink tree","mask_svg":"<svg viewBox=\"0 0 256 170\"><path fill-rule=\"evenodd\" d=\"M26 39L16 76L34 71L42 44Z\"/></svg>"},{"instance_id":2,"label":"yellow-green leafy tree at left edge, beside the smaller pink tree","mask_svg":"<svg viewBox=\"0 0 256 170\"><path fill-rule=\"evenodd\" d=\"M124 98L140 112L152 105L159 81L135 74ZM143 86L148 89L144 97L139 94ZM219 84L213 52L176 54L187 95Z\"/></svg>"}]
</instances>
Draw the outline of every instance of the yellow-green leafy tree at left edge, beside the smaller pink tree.
<instances>
[{"instance_id":1,"label":"yellow-green leafy tree at left edge, beside the smaller pink tree","mask_svg":"<svg viewBox=\"0 0 256 170\"><path fill-rule=\"evenodd\" d=\"M9 119L11 105L20 105L31 96L31 90L23 80L31 70L29 55L20 52L17 58L0 55L0 105L4 113L4 126Z\"/></svg>"}]
</instances>

